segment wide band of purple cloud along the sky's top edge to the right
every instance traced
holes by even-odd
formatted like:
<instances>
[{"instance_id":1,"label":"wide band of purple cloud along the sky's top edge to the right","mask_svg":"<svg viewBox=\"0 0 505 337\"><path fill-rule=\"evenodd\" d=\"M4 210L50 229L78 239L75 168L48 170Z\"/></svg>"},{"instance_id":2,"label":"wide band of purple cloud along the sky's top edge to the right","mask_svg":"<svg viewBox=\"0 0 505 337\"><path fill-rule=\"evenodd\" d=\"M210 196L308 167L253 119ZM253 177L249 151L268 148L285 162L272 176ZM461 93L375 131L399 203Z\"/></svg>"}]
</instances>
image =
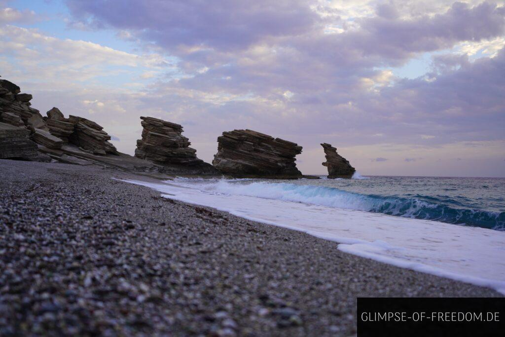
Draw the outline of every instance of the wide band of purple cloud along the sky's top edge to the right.
<instances>
[{"instance_id":1,"label":"wide band of purple cloud along the sky's top edge to the right","mask_svg":"<svg viewBox=\"0 0 505 337\"><path fill-rule=\"evenodd\" d=\"M75 20L83 24L119 29L129 39L154 42L208 66L261 45L271 46L280 54L294 49L312 59L328 62L329 58L340 66L399 64L413 53L494 38L505 27L503 7L486 2L474 7L460 2L434 6L432 15L413 8L412 3L399 13L401 3L394 2L377 6L375 16L369 5L362 13L353 13L349 9L356 9L356 3L349 3L346 12L341 2L314 0L69 0L67 4ZM410 15L400 15L405 13ZM342 14L358 17L346 20ZM325 33L327 27L335 26L343 31Z\"/></svg>"}]
</instances>

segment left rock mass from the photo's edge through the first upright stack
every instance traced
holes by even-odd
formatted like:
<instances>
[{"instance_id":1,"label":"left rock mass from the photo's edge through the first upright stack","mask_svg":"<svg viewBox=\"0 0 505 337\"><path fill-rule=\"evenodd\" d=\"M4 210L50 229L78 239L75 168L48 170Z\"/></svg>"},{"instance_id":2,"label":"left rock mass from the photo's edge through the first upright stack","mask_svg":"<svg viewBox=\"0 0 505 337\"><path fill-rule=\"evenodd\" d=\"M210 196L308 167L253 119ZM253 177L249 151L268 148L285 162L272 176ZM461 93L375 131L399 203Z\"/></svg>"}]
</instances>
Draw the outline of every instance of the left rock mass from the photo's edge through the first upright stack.
<instances>
[{"instance_id":1,"label":"left rock mass from the photo's edge through the first upright stack","mask_svg":"<svg viewBox=\"0 0 505 337\"><path fill-rule=\"evenodd\" d=\"M58 108L42 117L31 107L31 99L16 84L0 79L0 159L98 165L165 179L167 174L219 174L196 157L178 124L142 117L142 139L132 157L119 153L97 123L65 118Z\"/></svg>"}]
</instances>

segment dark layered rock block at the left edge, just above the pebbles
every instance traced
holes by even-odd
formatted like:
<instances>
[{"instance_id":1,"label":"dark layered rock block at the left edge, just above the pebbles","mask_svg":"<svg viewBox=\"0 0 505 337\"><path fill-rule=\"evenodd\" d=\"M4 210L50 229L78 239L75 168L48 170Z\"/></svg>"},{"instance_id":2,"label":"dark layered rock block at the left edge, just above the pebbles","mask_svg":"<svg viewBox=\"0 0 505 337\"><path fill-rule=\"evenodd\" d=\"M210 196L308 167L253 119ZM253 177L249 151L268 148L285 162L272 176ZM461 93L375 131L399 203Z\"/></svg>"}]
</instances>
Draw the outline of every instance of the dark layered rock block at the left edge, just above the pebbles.
<instances>
[{"instance_id":1,"label":"dark layered rock block at the left edge, just above the pebbles","mask_svg":"<svg viewBox=\"0 0 505 337\"><path fill-rule=\"evenodd\" d=\"M30 130L0 122L0 158L33 160L37 145L30 140Z\"/></svg>"}]
</instances>

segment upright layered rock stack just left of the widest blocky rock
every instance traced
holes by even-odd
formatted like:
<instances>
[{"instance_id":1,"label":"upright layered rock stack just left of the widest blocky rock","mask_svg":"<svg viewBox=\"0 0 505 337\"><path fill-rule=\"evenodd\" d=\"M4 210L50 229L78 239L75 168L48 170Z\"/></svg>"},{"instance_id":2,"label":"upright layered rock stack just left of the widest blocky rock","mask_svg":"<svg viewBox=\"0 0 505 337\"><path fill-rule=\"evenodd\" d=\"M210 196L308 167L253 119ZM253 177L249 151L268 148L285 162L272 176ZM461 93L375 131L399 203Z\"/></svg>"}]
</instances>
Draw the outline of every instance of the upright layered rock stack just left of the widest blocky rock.
<instances>
[{"instance_id":1,"label":"upright layered rock stack just left of the widest blocky rock","mask_svg":"<svg viewBox=\"0 0 505 337\"><path fill-rule=\"evenodd\" d=\"M196 157L182 126L153 117L140 117L142 139L137 140L135 157L171 167L187 167L201 173L216 173L212 165Z\"/></svg>"}]
</instances>

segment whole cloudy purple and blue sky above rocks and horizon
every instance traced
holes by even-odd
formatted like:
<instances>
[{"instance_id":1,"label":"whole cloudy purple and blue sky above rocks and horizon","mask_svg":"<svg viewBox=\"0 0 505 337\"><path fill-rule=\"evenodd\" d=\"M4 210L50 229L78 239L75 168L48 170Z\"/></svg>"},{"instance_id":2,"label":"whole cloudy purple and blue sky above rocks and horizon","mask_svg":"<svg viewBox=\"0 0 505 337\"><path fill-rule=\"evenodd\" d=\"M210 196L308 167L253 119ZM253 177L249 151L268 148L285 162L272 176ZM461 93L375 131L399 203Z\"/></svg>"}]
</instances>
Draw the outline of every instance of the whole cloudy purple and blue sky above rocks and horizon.
<instances>
[{"instance_id":1,"label":"whole cloudy purple and blue sky above rocks and horizon","mask_svg":"<svg viewBox=\"0 0 505 337\"><path fill-rule=\"evenodd\" d=\"M0 75L133 154L140 116L331 143L363 175L505 177L505 2L0 0Z\"/></svg>"}]
</instances>

